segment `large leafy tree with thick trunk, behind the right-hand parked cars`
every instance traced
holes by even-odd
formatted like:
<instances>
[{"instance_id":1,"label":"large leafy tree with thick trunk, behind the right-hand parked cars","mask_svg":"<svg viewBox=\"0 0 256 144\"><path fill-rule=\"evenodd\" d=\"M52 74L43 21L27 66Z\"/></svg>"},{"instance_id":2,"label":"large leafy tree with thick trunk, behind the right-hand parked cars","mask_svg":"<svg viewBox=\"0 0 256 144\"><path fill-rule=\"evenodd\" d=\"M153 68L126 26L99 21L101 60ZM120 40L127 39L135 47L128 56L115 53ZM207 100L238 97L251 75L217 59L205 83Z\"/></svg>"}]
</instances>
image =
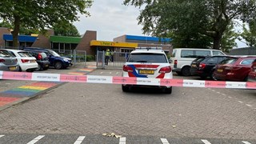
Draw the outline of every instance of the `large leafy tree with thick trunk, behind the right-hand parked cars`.
<instances>
[{"instance_id":1,"label":"large leafy tree with thick trunk, behind the right-hand parked cars","mask_svg":"<svg viewBox=\"0 0 256 144\"><path fill-rule=\"evenodd\" d=\"M124 0L124 4L143 7L138 23L144 33L158 37L180 31L206 35L216 50L232 20L250 22L256 17L255 0Z\"/></svg>"}]
</instances>

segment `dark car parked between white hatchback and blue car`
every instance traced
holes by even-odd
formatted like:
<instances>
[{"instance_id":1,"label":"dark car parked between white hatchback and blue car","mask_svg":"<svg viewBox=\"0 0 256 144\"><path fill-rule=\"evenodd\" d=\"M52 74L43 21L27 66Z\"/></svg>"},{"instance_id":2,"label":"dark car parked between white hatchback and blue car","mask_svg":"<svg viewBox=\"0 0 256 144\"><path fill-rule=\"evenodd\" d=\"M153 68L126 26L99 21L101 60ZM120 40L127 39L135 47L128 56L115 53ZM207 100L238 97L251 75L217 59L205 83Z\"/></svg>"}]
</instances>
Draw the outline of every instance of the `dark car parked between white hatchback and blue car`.
<instances>
[{"instance_id":1,"label":"dark car parked between white hatchback and blue car","mask_svg":"<svg viewBox=\"0 0 256 144\"><path fill-rule=\"evenodd\" d=\"M50 66L50 62L46 53L38 51L28 51L38 62L38 70L47 70Z\"/></svg>"}]
</instances>

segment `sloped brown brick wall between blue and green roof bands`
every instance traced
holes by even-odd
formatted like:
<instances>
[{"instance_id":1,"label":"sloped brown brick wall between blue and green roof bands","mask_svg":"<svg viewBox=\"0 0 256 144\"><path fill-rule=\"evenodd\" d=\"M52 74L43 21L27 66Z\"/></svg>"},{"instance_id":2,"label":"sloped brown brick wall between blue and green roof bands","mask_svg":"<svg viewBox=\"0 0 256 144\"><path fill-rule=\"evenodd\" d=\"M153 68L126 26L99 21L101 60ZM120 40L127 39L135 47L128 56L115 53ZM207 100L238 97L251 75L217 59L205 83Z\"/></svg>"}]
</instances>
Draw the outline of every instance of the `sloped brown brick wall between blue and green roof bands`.
<instances>
[{"instance_id":1,"label":"sloped brown brick wall between blue and green roof bands","mask_svg":"<svg viewBox=\"0 0 256 144\"><path fill-rule=\"evenodd\" d=\"M32 47L42 47L50 49L50 36L54 35L54 30L47 30L46 34L39 34Z\"/></svg>"}]
</instances>

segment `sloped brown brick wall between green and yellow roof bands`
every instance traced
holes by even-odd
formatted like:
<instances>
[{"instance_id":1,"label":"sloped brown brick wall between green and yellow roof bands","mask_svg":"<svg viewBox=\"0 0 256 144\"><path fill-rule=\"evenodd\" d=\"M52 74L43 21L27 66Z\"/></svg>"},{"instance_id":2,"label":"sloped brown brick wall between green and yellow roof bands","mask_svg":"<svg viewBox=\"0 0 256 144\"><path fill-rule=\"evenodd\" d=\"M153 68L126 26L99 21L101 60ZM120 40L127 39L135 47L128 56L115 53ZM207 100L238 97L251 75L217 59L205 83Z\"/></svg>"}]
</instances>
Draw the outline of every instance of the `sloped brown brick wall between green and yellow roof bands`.
<instances>
[{"instance_id":1,"label":"sloped brown brick wall between green and yellow roof bands","mask_svg":"<svg viewBox=\"0 0 256 144\"><path fill-rule=\"evenodd\" d=\"M90 48L90 41L96 40L96 38L97 31L86 30L86 33L83 35L75 50L86 50L86 54L95 55L96 49Z\"/></svg>"}]
</instances>

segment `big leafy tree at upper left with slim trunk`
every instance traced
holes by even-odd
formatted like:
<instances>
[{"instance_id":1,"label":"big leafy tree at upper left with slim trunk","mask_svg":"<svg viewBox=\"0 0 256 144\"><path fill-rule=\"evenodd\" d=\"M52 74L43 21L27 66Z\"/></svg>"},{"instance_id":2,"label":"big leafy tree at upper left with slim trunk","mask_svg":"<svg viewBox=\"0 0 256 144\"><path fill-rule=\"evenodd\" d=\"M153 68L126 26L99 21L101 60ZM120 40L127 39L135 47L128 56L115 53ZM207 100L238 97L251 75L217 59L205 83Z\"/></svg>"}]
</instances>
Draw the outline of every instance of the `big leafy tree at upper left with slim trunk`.
<instances>
[{"instance_id":1,"label":"big leafy tree at upper left with slim trunk","mask_svg":"<svg viewBox=\"0 0 256 144\"><path fill-rule=\"evenodd\" d=\"M78 13L90 14L86 8L92 0L2 0L0 18L13 27L14 46L18 46L21 26L26 29L44 30L55 23L70 23L78 20ZM1 20L0 19L0 20Z\"/></svg>"}]
</instances>

